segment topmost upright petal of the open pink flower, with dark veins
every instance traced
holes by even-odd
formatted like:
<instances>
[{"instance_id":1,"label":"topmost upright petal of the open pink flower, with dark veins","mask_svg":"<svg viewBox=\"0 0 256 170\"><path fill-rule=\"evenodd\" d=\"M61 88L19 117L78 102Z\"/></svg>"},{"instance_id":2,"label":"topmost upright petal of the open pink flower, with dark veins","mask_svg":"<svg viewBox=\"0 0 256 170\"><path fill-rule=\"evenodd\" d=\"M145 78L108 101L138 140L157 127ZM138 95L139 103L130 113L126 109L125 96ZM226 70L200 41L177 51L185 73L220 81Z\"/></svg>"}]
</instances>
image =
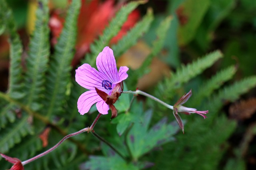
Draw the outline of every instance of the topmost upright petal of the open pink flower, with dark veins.
<instances>
[{"instance_id":1,"label":"topmost upright petal of the open pink flower, with dark veins","mask_svg":"<svg viewBox=\"0 0 256 170\"><path fill-rule=\"evenodd\" d=\"M113 50L110 47L105 47L102 52L99 53L96 59L96 65L98 70L108 77L108 81L116 83L118 81L118 72L116 68L116 59L113 54Z\"/></svg>"}]
</instances>

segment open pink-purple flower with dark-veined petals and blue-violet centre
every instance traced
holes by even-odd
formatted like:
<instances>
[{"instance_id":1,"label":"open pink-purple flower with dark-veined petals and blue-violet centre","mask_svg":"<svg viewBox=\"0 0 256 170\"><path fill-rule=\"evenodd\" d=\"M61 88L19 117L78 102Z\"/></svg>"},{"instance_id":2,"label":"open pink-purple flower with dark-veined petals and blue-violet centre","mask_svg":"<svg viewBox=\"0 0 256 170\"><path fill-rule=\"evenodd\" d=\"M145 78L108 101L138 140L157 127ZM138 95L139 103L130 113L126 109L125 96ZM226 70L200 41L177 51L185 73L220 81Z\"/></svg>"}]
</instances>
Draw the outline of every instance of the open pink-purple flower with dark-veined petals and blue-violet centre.
<instances>
[{"instance_id":1,"label":"open pink-purple flower with dark-veined petals and blue-violet centre","mask_svg":"<svg viewBox=\"0 0 256 170\"><path fill-rule=\"evenodd\" d=\"M99 71L89 64L83 64L76 70L76 82L82 87L89 89L83 93L77 102L78 112L81 115L88 113L94 103L99 113L108 114L109 105L98 95L96 89L111 95L112 89L128 77L128 67L116 68L116 60L112 49L105 47L96 59L96 66ZM120 92L122 92L120 86Z\"/></svg>"}]
</instances>

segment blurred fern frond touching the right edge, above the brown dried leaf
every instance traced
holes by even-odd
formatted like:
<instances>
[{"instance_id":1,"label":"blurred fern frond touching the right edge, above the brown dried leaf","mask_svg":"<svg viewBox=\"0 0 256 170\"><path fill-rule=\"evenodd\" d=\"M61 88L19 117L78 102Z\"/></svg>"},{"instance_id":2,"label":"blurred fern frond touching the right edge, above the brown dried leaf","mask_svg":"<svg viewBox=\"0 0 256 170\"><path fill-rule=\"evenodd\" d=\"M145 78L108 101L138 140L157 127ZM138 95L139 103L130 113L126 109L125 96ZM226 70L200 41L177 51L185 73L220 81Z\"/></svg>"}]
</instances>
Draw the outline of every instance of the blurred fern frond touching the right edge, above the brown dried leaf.
<instances>
[{"instance_id":1,"label":"blurred fern frond touching the right edge, above the brown dried leaf","mask_svg":"<svg viewBox=\"0 0 256 170\"><path fill-rule=\"evenodd\" d=\"M209 114L211 115L208 119L213 120L225 102L237 100L240 95L254 87L256 87L256 76L250 76L221 89L205 106L205 108L209 108Z\"/></svg>"}]
</instances>

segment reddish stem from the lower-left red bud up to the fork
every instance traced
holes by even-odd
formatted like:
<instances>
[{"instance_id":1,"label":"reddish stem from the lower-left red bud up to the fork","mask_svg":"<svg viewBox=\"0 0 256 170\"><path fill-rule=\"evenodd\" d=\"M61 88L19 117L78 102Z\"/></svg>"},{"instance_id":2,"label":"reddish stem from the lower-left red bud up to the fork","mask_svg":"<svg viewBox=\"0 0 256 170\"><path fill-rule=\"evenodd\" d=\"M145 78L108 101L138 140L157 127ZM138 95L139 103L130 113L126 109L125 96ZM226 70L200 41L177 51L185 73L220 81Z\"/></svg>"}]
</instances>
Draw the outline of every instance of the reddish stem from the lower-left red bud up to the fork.
<instances>
[{"instance_id":1,"label":"reddish stem from the lower-left red bud up to the fork","mask_svg":"<svg viewBox=\"0 0 256 170\"><path fill-rule=\"evenodd\" d=\"M90 128L83 128L83 129L79 130L78 132L74 132L74 133L68 134L67 136L65 136L64 138L62 138L62 140L60 140L60 142L58 142L58 143L57 143L56 145L54 145L52 148L46 150L45 152L42 152L41 154L38 154L38 155L34 156L33 158L30 158L30 159L28 159L28 160L25 160L25 161L23 161L23 162L21 162L21 163L22 163L22 165L26 165L26 164L28 164L28 163L30 163L30 162L32 162L32 161L38 159L38 158L41 158L42 156L44 156L44 155L46 155L46 154L52 152L54 149L56 149L56 148L57 148L60 144L62 144L62 142L64 142L67 138L70 138L70 137L72 137L72 136L78 135L78 134L83 133L83 132L89 132L89 131L90 131Z\"/></svg>"}]
</instances>

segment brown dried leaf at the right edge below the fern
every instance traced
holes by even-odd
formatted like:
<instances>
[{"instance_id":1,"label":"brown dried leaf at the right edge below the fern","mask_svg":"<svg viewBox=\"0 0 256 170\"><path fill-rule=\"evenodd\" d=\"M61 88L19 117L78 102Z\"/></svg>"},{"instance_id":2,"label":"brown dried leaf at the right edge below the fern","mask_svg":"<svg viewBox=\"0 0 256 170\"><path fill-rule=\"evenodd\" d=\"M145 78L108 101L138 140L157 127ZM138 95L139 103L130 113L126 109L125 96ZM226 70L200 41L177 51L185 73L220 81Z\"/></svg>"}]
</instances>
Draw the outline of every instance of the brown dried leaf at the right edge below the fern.
<instances>
[{"instance_id":1,"label":"brown dried leaf at the right edge below the fern","mask_svg":"<svg viewBox=\"0 0 256 170\"><path fill-rule=\"evenodd\" d=\"M234 103L229 108L229 115L236 120L249 119L256 111L256 98Z\"/></svg>"}]
</instances>

